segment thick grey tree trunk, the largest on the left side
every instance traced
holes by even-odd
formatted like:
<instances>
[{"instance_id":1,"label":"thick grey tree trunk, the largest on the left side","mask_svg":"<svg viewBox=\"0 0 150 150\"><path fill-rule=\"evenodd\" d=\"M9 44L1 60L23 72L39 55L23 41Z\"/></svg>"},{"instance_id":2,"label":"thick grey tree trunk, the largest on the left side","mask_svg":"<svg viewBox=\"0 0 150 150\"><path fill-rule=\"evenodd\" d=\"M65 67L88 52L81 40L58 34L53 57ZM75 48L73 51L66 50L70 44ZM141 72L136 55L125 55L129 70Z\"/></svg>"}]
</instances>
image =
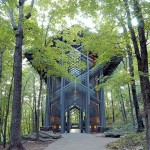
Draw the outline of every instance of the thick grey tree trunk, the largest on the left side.
<instances>
[{"instance_id":1,"label":"thick grey tree trunk, the largest on the left side","mask_svg":"<svg viewBox=\"0 0 150 150\"><path fill-rule=\"evenodd\" d=\"M22 44L23 44L23 5L19 0L19 24L16 31L14 53L14 91L12 102L11 140L8 150L24 150L21 144L21 87L22 87Z\"/></svg>"}]
</instances>

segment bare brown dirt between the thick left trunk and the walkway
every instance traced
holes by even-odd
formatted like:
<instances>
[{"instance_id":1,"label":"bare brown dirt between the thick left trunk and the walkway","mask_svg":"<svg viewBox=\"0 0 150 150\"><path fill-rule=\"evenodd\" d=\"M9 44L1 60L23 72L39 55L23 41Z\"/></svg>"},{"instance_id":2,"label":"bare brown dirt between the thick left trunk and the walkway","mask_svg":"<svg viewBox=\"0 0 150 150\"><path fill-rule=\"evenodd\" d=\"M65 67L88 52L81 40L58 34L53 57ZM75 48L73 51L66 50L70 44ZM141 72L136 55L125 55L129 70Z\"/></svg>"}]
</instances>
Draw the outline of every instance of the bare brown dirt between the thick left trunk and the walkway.
<instances>
[{"instance_id":1,"label":"bare brown dirt between the thick left trunk and the walkway","mask_svg":"<svg viewBox=\"0 0 150 150\"><path fill-rule=\"evenodd\" d=\"M47 141L47 142L26 141L23 142L23 146L26 148L26 150L44 150L51 143L52 141ZM6 150L6 149L7 148L3 148L0 145L0 150Z\"/></svg>"}]
</instances>

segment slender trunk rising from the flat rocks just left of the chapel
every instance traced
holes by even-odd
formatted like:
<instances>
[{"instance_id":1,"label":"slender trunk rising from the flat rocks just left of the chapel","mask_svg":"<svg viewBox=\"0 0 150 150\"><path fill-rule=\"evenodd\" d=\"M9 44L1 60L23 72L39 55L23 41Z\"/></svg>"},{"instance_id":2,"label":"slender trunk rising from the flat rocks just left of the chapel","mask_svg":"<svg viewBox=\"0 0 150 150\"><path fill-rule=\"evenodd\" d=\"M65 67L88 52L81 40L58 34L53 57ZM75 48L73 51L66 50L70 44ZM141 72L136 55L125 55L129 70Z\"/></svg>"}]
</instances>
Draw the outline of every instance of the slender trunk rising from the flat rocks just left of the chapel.
<instances>
[{"instance_id":1,"label":"slender trunk rising from the flat rocks just left of the chapel","mask_svg":"<svg viewBox=\"0 0 150 150\"><path fill-rule=\"evenodd\" d=\"M38 97L38 106L37 106L37 137L39 140L39 119L40 119L40 104L41 104L41 93L42 93L42 71L40 73L40 89L39 89L39 97Z\"/></svg>"}]
</instances>

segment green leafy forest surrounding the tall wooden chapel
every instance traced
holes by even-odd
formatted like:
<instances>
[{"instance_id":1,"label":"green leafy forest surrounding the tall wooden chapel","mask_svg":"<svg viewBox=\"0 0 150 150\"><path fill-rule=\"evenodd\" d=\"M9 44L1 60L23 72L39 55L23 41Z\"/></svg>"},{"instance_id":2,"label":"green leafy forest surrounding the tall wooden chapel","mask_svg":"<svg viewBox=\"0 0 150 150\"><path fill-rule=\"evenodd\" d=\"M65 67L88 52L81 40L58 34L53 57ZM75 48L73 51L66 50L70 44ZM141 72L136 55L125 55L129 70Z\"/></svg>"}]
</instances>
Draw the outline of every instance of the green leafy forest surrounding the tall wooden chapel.
<instances>
[{"instance_id":1,"label":"green leafy forest surrounding the tall wooden chapel","mask_svg":"<svg viewBox=\"0 0 150 150\"><path fill-rule=\"evenodd\" d=\"M94 89L104 88L107 126L143 132L150 150L150 0L0 0L0 145L21 150L24 135L38 135L44 79L75 80L67 53L81 43L96 66L121 58Z\"/></svg>"}]
</instances>

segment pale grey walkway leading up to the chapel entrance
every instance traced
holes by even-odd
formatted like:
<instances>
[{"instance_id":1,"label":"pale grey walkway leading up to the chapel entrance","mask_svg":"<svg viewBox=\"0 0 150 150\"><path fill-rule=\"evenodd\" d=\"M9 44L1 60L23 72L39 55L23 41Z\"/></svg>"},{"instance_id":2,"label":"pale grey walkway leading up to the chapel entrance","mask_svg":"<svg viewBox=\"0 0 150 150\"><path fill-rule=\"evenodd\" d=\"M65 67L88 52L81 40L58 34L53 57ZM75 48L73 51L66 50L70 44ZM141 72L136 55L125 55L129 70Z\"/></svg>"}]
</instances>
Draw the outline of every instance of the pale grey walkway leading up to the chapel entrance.
<instances>
[{"instance_id":1,"label":"pale grey walkway leading up to the chapel entrance","mask_svg":"<svg viewBox=\"0 0 150 150\"><path fill-rule=\"evenodd\" d=\"M117 140L101 137L101 134L65 133L62 136L45 150L106 150L107 143Z\"/></svg>"}]
</instances>

